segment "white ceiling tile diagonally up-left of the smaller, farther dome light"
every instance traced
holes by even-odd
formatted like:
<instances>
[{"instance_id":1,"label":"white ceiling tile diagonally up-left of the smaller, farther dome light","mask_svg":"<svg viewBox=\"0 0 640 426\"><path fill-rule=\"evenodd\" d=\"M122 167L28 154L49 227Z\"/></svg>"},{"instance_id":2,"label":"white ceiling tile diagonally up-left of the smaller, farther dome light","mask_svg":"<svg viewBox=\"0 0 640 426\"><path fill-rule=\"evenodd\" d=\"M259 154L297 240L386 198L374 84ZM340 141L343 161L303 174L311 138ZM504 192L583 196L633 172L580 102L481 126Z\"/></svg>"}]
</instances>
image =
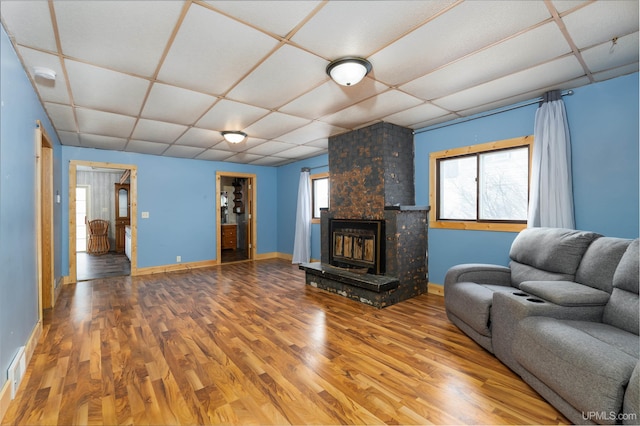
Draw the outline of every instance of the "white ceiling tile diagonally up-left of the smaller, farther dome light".
<instances>
[{"instance_id":1,"label":"white ceiling tile diagonally up-left of the smaller, farther dome light","mask_svg":"<svg viewBox=\"0 0 640 426\"><path fill-rule=\"evenodd\" d=\"M170 123L191 125L213 105L216 98L193 90L155 83L142 116ZM171 108L168 106L171 105Z\"/></svg>"}]
</instances>

